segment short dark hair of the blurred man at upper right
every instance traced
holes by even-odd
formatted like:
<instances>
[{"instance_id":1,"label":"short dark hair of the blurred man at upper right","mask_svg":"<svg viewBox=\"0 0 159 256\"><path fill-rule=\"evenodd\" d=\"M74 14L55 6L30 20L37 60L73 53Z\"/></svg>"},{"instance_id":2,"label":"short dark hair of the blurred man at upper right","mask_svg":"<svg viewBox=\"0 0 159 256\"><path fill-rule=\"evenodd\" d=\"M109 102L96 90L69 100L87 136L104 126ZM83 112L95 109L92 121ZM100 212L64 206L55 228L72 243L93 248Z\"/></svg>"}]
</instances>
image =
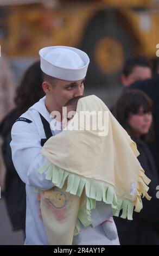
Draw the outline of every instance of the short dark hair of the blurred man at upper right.
<instances>
[{"instance_id":1,"label":"short dark hair of the blurred man at upper right","mask_svg":"<svg viewBox=\"0 0 159 256\"><path fill-rule=\"evenodd\" d=\"M152 70L152 65L145 56L134 56L126 60L122 74L126 77L129 76L136 66L142 66Z\"/></svg>"}]
</instances>

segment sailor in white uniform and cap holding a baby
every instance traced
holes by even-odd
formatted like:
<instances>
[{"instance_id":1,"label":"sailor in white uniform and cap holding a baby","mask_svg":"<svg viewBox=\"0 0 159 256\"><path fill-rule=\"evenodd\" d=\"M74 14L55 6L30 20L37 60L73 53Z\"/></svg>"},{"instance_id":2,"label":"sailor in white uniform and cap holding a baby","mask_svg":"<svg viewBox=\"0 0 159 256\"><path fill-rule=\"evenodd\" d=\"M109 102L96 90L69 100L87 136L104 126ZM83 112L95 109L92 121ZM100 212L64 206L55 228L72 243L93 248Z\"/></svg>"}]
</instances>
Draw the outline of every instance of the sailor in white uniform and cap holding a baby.
<instances>
[{"instance_id":1,"label":"sailor in white uniform and cap holding a baby","mask_svg":"<svg viewBox=\"0 0 159 256\"><path fill-rule=\"evenodd\" d=\"M12 161L18 175L26 183L25 245L48 244L40 215L40 202L34 188L49 190L54 184L52 181L46 180L46 173L38 172L39 168L47 162L40 151L47 139L57 135L62 129L61 120L56 121L51 113L58 111L62 115L62 106L65 106L65 103L73 97L83 94L84 81L90 62L85 52L67 46L45 47L40 50L39 54L43 74L43 83L39 86L42 86L46 96L16 120L12 126L12 141L10 143ZM56 126L56 130L50 129L50 123ZM103 206L99 205L92 213L93 227L83 227L80 241L77 243L82 244L83 237L87 245L119 244L118 237L116 240L110 241L104 232L101 234L103 229L100 228L100 224L111 215L110 210L106 215Z\"/></svg>"}]
</instances>

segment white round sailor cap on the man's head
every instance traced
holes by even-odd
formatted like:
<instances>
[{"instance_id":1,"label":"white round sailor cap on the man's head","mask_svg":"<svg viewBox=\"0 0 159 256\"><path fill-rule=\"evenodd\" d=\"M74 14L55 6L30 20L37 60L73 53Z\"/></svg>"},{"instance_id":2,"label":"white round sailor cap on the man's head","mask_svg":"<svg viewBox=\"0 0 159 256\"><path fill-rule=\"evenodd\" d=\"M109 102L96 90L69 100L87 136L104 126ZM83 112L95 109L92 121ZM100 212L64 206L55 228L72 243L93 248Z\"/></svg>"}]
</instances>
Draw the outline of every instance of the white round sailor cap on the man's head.
<instances>
[{"instance_id":1,"label":"white round sailor cap on the man's head","mask_svg":"<svg viewBox=\"0 0 159 256\"><path fill-rule=\"evenodd\" d=\"M39 51L41 70L52 77L67 81L85 78L90 59L77 48L68 46L44 47Z\"/></svg>"}]
</instances>

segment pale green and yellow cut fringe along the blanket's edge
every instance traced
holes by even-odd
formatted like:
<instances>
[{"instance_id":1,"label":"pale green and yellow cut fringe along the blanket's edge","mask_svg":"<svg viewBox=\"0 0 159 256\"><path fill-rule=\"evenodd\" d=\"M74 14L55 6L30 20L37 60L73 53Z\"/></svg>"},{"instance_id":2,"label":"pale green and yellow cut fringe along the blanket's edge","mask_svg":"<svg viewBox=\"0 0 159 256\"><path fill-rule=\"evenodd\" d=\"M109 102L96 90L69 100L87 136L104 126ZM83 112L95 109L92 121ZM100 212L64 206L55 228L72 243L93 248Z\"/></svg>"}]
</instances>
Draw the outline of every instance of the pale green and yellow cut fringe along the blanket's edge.
<instances>
[{"instance_id":1,"label":"pale green and yellow cut fringe along the blanket's edge","mask_svg":"<svg viewBox=\"0 0 159 256\"><path fill-rule=\"evenodd\" d=\"M135 154L137 154L135 144L132 143L132 145ZM46 179L51 180L56 187L62 188L67 179L66 192L80 197L85 188L87 200L86 204L82 207L82 209L79 210L74 234L79 233L80 222L84 225L84 227L87 227L92 223L91 210L96 208L96 201L102 201L106 204L110 204L114 216L119 216L120 210L122 210L122 215L120 217L132 220L134 206L136 212L139 212L142 209L141 196L145 196L148 200L151 199L147 193L149 190L147 185L150 183L150 179L147 178L147 176L144 174L144 170L142 169L139 170L136 197L133 202L131 200L117 197L114 188L110 185L80 178L78 175L68 173L63 169L54 166L54 164L51 162L47 162L42 168L39 169L41 174L46 171Z\"/></svg>"}]
</instances>

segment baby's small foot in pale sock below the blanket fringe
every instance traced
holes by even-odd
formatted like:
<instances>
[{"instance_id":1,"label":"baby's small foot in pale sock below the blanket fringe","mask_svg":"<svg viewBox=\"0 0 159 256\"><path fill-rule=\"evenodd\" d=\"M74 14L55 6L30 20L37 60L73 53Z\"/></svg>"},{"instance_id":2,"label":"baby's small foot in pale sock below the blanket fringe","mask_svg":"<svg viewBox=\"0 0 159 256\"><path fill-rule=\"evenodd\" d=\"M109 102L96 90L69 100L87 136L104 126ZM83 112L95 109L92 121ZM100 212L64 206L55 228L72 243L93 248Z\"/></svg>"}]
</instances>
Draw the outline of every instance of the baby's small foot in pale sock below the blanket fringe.
<instances>
[{"instance_id":1,"label":"baby's small foot in pale sock below the blanket fringe","mask_svg":"<svg viewBox=\"0 0 159 256\"><path fill-rule=\"evenodd\" d=\"M110 217L107 221L104 221L102 224L104 232L110 240L115 240L118 236L117 229L113 223L113 217Z\"/></svg>"}]
</instances>

